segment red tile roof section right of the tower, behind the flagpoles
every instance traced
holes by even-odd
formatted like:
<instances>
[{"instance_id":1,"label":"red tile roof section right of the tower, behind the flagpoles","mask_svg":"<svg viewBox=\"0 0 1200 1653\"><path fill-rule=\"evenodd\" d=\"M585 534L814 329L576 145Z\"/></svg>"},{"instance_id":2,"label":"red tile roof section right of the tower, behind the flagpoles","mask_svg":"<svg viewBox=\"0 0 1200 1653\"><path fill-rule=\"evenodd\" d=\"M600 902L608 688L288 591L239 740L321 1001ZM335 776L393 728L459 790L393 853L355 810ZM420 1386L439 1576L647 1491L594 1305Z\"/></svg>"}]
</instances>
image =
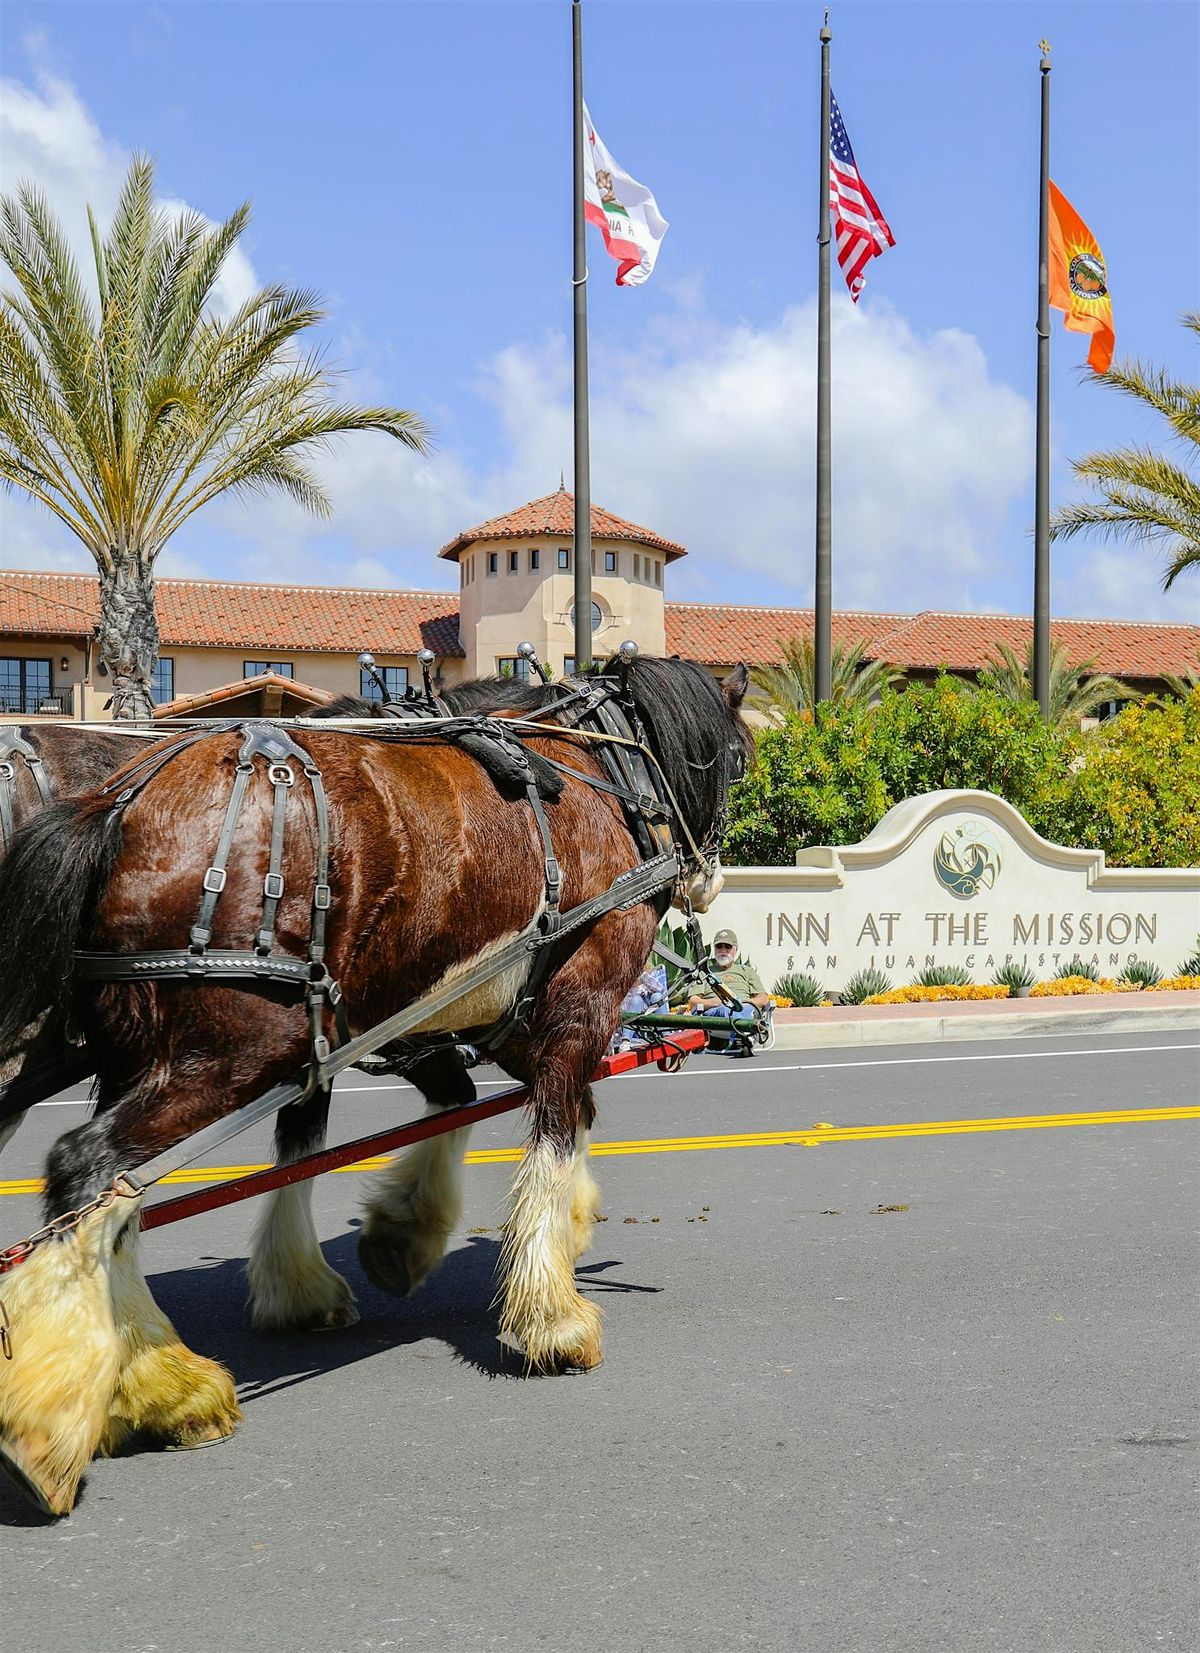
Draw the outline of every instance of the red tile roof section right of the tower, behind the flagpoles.
<instances>
[{"instance_id":1,"label":"red tile roof section right of the tower, behind the flagpoles","mask_svg":"<svg viewBox=\"0 0 1200 1653\"><path fill-rule=\"evenodd\" d=\"M779 660L779 638L812 636L812 608L740 608L717 603L668 603L668 653L688 655L711 666L744 660L765 666ZM977 671L1007 643L1023 658L1033 622L1018 615L955 615L924 610L917 615L833 615L835 643L864 643L868 660L886 660L907 671ZM1197 669L1200 625L1140 620L1051 620L1053 643L1071 661L1094 660L1117 678L1183 676Z\"/></svg>"}]
</instances>

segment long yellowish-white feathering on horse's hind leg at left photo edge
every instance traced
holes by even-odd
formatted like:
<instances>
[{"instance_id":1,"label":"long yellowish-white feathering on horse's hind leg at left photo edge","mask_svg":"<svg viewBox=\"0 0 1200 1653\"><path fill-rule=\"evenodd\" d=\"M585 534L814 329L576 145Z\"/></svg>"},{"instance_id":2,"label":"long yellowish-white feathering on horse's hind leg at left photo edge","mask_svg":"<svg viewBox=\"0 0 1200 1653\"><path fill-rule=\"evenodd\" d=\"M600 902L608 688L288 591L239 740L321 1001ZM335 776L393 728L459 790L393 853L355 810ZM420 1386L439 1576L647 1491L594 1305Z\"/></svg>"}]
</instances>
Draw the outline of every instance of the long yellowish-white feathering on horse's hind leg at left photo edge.
<instances>
[{"instance_id":1,"label":"long yellowish-white feathering on horse's hind leg at left photo edge","mask_svg":"<svg viewBox=\"0 0 1200 1653\"><path fill-rule=\"evenodd\" d=\"M53 1516L74 1506L107 1425L121 1370L109 1266L139 1217L139 1200L117 1197L0 1279L12 1354L0 1360L0 1455Z\"/></svg>"}]
</instances>

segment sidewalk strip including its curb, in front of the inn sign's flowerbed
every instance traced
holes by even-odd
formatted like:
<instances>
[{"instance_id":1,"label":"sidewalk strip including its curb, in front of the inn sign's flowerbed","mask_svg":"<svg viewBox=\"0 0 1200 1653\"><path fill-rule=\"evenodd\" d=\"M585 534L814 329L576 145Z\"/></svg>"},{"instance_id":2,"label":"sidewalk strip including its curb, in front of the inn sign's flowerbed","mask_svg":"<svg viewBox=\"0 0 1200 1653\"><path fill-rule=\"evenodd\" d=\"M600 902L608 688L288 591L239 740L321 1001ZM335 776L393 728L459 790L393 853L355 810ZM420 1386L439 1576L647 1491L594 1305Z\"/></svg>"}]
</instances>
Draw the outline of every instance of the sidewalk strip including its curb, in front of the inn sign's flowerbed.
<instances>
[{"instance_id":1,"label":"sidewalk strip including its curb, in front of the inn sign's flowerbed","mask_svg":"<svg viewBox=\"0 0 1200 1653\"><path fill-rule=\"evenodd\" d=\"M1200 992L982 998L937 1005L833 1005L828 1010L775 1012L777 1050L1053 1038L1063 1033L1200 1033Z\"/></svg>"}]
</instances>

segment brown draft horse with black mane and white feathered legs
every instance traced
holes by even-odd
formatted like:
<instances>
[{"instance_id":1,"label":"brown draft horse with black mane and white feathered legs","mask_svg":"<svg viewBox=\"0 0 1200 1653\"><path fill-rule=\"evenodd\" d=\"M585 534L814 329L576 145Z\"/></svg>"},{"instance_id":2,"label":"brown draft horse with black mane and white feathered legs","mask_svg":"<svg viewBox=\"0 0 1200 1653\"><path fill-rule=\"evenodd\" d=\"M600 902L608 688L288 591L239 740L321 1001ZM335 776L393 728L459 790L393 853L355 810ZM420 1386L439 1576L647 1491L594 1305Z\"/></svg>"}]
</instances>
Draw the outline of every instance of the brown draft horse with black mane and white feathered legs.
<instances>
[{"instance_id":1,"label":"brown draft horse with black mane and white feathered legs","mask_svg":"<svg viewBox=\"0 0 1200 1653\"><path fill-rule=\"evenodd\" d=\"M739 707L745 668L726 684L686 661L641 660L631 691L678 800L686 833L712 846L729 784L745 764ZM491 691L514 712L552 717L549 689ZM486 693L476 704L486 703ZM182 750L122 812L114 792L53 805L0 868L0 1056L38 1010L73 1008L98 1053L98 1112L50 1154L46 1213L93 1200L122 1170L293 1079L311 1055L307 1017L271 984L73 980L76 947L131 954L187 946L205 868L230 798L240 734L221 731ZM334 891L327 960L352 1031L367 1030L435 985L453 984L517 936L545 899L532 810L501 795L451 744L385 744L306 729L298 744L319 767L331 812ZM602 775L570 732L529 741L574 769ZM253 946L271 836L271 787L250 784L215 947ZM296 788L284 845L278 941L302 957L316 868L312 798ZM603 893L640 855L620 803L567 777L545 805L564 876L562 906ZM693 860L698 904L719 888ZM701 886L706 886L701 893ZM668 891L669 896L669 891ZM664 898L666 899L666 898ZM575 1288L598 1190L585 1152L595 1116L588 1076L643 967L658 911L612 911L555 947L531 1017L496 1051L529 1086L527 1152L511 1189L501 1248L501 1334L531 1367L600 1360L600 1312ZM577 937L575 937L577 939ZM519 995L511 969L435 1015L425 1031L484 1027ZM431 1108L474 1088L451 1053L413 1078ZM324 1131L327 1094L284 1109L279 1157ZM405 1294L441 1260L461 1200L464 1132L398 1159L374 1184L360 1260L380 1286ZM117 1195L3 1276L15 1357L0 1364L0 1456L43 1508L76 1498L98 1453L131 1436L193 1446L233 1431L233 1380L187 1349L154 1303L137 1258L140 1198ZM263 1326L337 1326L354 1316L350 1288L326 1265L304 1195L283 1190L260 1225L250 1265Z\"/></svg>"}]
</instances>

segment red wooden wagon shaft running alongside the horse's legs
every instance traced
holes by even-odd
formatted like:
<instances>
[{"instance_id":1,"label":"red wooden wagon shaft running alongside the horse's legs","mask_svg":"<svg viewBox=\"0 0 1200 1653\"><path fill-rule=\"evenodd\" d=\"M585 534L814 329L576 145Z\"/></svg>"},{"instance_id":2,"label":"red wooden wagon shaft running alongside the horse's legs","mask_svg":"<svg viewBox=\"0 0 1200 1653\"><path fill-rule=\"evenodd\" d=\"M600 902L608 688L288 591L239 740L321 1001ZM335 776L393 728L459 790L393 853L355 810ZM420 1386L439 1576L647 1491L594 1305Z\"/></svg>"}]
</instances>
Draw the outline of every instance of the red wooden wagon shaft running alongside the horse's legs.
<instances>
[{"instance_id":1,"label":"red wooden wagon shaft running alongside the horse's legs","mask_svg":"<svg viewBox=\"0 0 1200 1653\"><path fill-rule=\"evenodd\" d=\"M698 1028L681 1028L678 1036L646 1050L620 1051L605 1056L593 1074L597 1079L610 1079L617 1073L628 1073L633 1068L645 1068L651 1061L666 1071L674 1071L683 1058L693 1050L704 1046L706 1035ZM212 1189L200 1189L197 1193L182 1193L174 1200L162 1200L142 1212L142 1228L162 1228L165 1223L177 1223L183 1217L197 1217L200 1212L213 1212L221 1205L236 1205L238 1200L253 1200L258 1193L269 1193L273 1189L286 1189L293 1182L307 1182L326 1170L337 1170L339 1165L354 1165L360 1159L375 1154L388 1154L393 1149L410 1147L413 1142L425 1142L428 1137L441 1136L445 1131L461 1131L466 1126L479 1124L483 1119L494 1119L496 1114L511 1112L527 1098L524 1084L514 1084L499 1096L484 1101L466 1103L463 1108L446 1108L438 1114L412 1119L408 1124L393 1126L390 1131L377 1131L374 1136L359 1137L354 1142L342 1142L340 1147L324 1149L321 1154L306 1154L288 1165L273 1165L269 1170L256 1170L250 1177L238 1177Z\"/></svg>"}]
</instances>

